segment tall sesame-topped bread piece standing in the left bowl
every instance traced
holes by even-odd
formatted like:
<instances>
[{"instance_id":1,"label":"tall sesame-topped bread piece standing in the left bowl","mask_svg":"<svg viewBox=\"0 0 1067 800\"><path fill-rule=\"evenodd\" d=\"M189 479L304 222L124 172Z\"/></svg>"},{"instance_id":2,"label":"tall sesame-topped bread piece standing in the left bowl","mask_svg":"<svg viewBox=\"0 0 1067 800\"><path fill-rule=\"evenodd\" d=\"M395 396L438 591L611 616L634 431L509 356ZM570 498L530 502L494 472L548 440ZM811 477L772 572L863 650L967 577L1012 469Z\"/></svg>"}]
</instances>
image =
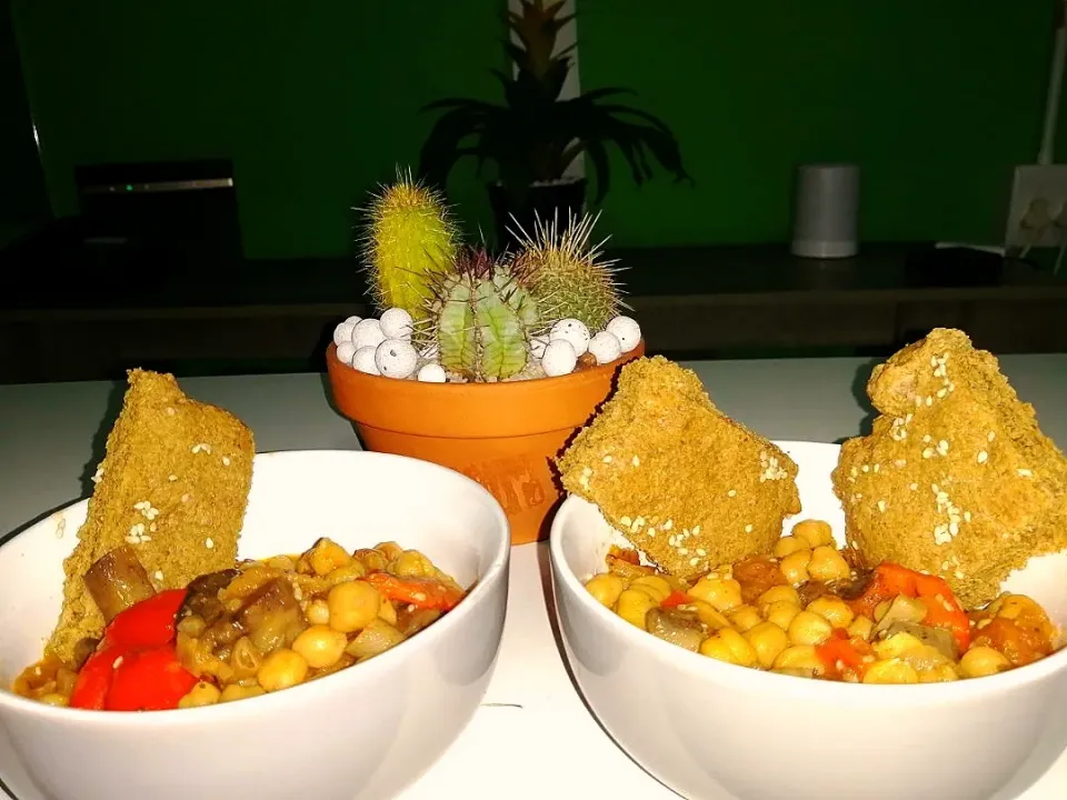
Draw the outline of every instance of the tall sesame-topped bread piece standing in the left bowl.
<instances>
[{"instance_id":1,"label":"tall sesame-topped bread piece standing in the left bowl","mask_svg":"<svg viewBox=\"0 0 1067 800\"><path fill-rule=\"evenodd\" d=\"M70 659L103 617L82 580L108 551L132 544L157 590L233 566L252 478L252 432L200 403L173 376L134 369L93 480L86 523L63 563L63 606L48 649Z\"/></svg>"}]
</instances>

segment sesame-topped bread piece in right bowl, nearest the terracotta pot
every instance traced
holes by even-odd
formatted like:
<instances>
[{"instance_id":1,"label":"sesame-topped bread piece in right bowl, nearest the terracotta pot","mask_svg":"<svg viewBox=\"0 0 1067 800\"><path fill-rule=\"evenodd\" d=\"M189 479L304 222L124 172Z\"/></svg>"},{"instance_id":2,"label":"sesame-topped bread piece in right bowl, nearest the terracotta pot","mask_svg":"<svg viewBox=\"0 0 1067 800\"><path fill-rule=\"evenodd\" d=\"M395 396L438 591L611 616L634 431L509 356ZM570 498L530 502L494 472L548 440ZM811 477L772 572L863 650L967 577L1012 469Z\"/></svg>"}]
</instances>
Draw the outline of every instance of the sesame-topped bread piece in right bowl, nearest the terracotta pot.
<instances>
[{"instance_id":1,"label":"sesame-topped bread piece in right bowl, nearest the terracotta pot","mask_svg":"<svg viewBox=\"0 0 1067 800\"><path fill-rule=\"evenodd\" d=\"M660 356L621 369L618 391L557 466L569 492L682 578L769 553L800 511L796 463Z\"/></svg>"}]
</instances>

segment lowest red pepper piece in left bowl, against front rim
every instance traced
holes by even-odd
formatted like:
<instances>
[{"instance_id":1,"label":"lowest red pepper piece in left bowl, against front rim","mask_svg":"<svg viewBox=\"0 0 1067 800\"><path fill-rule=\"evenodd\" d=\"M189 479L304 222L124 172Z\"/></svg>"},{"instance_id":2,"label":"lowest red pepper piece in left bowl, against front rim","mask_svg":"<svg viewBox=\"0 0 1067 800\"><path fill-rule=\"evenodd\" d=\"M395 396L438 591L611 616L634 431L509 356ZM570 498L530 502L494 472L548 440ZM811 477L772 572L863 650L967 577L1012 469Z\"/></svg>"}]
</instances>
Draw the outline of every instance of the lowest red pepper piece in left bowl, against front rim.
<instances>
[{"instance_id":1,"label":"lowest red pepper piece in left bowl, against front rim","mask_svg":"<svg viewBox=\"0 0 1067 800\"><path fill-rule=\"evenodd\" d=\"M104 708L108 711L164 711L178 708L197 684L169 644L127 652L114 670Z\"/></svg>"}]
</instances>

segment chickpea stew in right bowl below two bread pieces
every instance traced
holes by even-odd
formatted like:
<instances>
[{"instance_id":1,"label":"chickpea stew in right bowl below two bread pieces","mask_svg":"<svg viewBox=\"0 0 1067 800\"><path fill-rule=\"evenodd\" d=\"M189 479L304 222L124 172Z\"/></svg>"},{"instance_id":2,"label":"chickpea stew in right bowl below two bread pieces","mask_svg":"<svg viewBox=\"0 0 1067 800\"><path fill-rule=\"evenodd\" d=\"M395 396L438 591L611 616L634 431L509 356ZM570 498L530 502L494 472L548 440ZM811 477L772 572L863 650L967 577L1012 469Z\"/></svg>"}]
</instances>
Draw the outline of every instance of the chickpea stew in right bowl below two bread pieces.
<instances>
[{"instance_id":1,"label":"chickpea stew in right bowl below two bread pieces","mask_svg":"<svg viewBox=\"0 0 1067 800\"><path fill-rule=\"evenodd\" d=\"M624 620L740 667L851 683L980 678L1050 654L1059 630L1023 594L963 609L940 578L882 563L855 568L829 524L798 522L774 553L692 581L611 548L586 589Z\"/></svg>"}]
</instances>

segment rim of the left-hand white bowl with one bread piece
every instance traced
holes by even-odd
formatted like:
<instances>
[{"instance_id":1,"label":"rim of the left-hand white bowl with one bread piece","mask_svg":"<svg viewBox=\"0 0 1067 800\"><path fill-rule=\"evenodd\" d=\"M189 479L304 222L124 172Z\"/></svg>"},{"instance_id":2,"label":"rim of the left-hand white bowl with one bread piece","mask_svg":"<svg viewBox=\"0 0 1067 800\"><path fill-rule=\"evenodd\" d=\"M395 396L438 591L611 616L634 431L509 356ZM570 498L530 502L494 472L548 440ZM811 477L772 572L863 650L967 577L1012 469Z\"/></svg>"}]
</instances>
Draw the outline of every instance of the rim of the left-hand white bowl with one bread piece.
<instances>
[{"instance_id":1,"label":"rim of the left-hand white bowl with one bread piece","mask_svg":"<svg viewBox=\"0 0 1067 800\"><path fill-rule=\"evenodd\" d=\"M178 714L176 712L179 709L122 713L49 706L47 703L16 694L13 691L11 691L10 687L3 686L0 687L0 717L9 713L28 714L38 718L40 721L60 724L76 724L84 728L124 726L154 728L157 726L176 724L198 726L201 722L218 724L220 721L225 722L228 718L238 719L242 714L255 714L255 710L245 712L240 710L242 708L248 709L245 703L250 701L258 701L256 708L261 709L259 713L269 713L271 708L281 710L286 707L286 704L291 704L293 702L315 702L316 693L318 696L323 696L331 694L335 691L340 691L342 686L340 681L342 680L347 680L350 683L356 684L355 682L357 681L365 679L373 680L375 676L391 671L395 664L403 659L407 653L413 652L416 647L415 642L421 642L421 644L418 644L418 647L426 649L431 647L438 640L448 637L453 628L462 624L463 620L473 613L473 608L476 606L480 606L485 601L485 598L489 597L490 592L493 590L493 587L507 578L511 557L511 533L507 514L505 514L500 503L497 502L497 500L492 497L492 494L489 493L488 490L485 489L485 487L477 481L471 480L461 472L457 472L430 461L422 461L420 459L413 459L407 456L371 452L366 450L271 450L256 453L255 459L259 460L266 457L265 460L273 461L288 460L288 458L291 457L292 460L297 460L299 458L313 458L315 456L322 454L340 459L360 458L365 461L376 460L379 462L403 462L408 466L413 466L416 469L423 470L426 473L437 474L446 480L453 480L458 484L466 483L468 488L476 490L476 494L481 496L483 500L488 501L486 503L486 508L495 518L495 528L498 532L497 541L490 548L491 558L483 574L475 582L472 588L470 588L470 590L463 597L463 600L456 606L455 609L449 611L447 614L443 614L433 624L429 626L422 631L419 631L417 636L400 642L380 656L376 656L375 658L369 659L361 664L352 664L352 667L359 666L359 670L352 670L351 668L342 669L328 676L323 676L317 680L290 687L283 691L268 692L266 694L246 698L235 702L216 703L213 706L203 706L191 709L180 709L181 713ZM53 514L63 513L79 506L88 507L88 498L76 500L74 502L63 506L61 509L57 509ZM17 534L7 538L3 540L3 543L0 544L0 549L8 547L11 542L16 541L20 537L37 531L40 527L48 524L51 518L52 514L49 514L48 517L40 519L38 522L27 527L24 530L19 531ZM296 694L293 696L292 692L296 692ZM237 711L233 709L237 709Z\"/></svg>"}]
</instances>

